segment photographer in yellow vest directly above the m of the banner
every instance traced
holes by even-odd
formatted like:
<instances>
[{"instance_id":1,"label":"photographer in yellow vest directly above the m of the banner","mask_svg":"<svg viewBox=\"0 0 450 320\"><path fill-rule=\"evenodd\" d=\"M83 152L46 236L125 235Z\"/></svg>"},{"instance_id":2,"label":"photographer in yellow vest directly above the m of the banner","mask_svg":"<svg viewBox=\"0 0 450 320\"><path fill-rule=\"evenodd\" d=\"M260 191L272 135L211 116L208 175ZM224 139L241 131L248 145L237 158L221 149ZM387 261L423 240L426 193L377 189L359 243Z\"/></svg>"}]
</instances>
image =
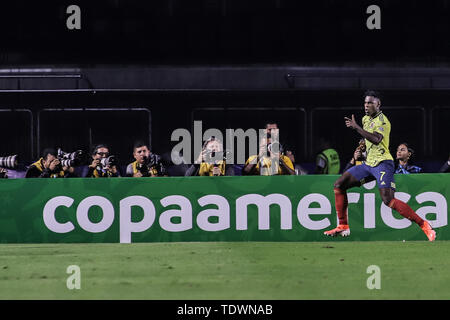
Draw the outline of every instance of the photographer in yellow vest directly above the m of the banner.
<instances>
[{"instance_id":1,"label":"photographer in yellow vest directly above the m of the banner","mask_svg":"<svg viewBox=\"0 0 450 320\"><path fill-rule=\"evenodd\" d=\"M250 156L242 170L244 175L295 175L291 159L284 155L283 146L271 135L262 138L258 155ZM273 167L272 167L273 166Z\"/></svg>"}]
</instances>

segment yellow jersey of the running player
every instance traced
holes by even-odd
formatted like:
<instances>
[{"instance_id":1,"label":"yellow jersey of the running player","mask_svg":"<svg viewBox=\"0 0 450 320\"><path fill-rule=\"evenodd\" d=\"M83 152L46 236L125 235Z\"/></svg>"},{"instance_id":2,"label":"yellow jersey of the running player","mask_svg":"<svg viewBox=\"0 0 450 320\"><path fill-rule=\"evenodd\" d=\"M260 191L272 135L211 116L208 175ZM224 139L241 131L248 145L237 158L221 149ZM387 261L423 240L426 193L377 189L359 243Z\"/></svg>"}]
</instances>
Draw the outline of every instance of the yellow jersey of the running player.
<instances>
[{"instance_id":1,"label":"yellow jersey of the running player","mask_svg":"<svg viewBox=\"0 0 450 320\"><path fill-rule=\"evenodd\" d=\"M373 118L364 116L362 119L363 129L367 132L378 132L383 136L381 142L376 145L366 140L367 158L365 163L368 166L376 167L381 161L394 160L389 152L389 134L391 133L391 123L388 118L379 111Z\"/></svg>"}]
</instances>

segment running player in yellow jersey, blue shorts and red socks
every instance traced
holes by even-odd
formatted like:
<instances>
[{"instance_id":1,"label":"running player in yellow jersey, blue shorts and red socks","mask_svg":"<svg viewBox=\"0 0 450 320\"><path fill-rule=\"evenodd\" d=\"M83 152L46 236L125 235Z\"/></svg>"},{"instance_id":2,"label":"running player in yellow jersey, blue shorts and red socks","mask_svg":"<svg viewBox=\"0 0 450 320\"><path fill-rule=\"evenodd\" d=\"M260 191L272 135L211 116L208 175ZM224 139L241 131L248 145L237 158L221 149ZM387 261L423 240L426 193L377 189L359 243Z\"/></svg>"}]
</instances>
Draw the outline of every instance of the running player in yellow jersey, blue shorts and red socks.
<instances>
[{"instance_id":1,"label":"running player in yellow jersey, blue shorts and red socks","mask_svg":"<svg viewBox=\"0 0 450 320\"><path fill-rule=\"evenodd\" d=\"M348 226L348 199L347 189L360 187L367 181L376 179L383 203L396 210L403 217L417 223L428 237L434 241L436 232L431 228L428 221L420 218L409 205L394 198L394 159L389 153L389 134L391 124L380 110L381 100L375 91L366 91L364 94L364 110L366 115L362 119L361 128L352 118L345 117L348 128L356 130L366 141L367 158L362 165L354 166L336 180L334 184L334 195L336 212L339 224L336 228L325 231L327 236L349 236Z\"/></svg>"}]
</instances>

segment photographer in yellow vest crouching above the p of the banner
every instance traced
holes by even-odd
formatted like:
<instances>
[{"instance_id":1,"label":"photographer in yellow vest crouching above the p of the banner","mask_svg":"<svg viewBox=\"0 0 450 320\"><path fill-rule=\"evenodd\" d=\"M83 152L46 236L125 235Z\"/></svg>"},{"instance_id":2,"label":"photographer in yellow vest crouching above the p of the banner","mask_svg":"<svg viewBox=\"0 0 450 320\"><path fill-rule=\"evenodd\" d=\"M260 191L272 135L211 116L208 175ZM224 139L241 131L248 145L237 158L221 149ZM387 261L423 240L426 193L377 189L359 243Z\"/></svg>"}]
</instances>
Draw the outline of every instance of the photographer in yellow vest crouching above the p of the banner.
<instances>
[{"instance_id":1,"label":"photographer in yellow vest crouching above the p of the banner","mask_svg":"<svg viewBox=\"0 0 450 320\"><path fill-rule=\"evenodd\" d=\"M147 144L137 141L133 146L133 157L136 161L127 166L127 177L160 177L166 175L166 168L161 157L151 153Z\"/></svg>"}]
</instances>

